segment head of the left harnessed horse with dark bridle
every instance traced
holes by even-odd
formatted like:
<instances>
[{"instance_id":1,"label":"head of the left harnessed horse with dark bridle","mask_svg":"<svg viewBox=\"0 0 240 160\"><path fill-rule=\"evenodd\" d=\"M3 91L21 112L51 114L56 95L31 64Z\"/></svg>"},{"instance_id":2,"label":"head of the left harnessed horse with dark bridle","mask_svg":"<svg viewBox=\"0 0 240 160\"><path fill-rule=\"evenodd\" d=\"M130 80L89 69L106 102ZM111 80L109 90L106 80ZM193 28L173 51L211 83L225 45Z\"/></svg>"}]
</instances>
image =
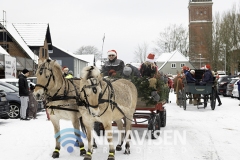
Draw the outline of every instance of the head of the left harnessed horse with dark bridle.
<instances>
[{"instance_id":1,"label":"head of the left harnessed horse with dark bridle","mask_svg":"<svg viewBox=\"0 0 240 160\"><path fill-rule=\"evenodd\" d=\"M36 76L37 84L33 92L36 100L43 100L47 94L57 90L63 78L60 65L56 60L50 59L39 61Z\"/></svg>"}]
</instances>

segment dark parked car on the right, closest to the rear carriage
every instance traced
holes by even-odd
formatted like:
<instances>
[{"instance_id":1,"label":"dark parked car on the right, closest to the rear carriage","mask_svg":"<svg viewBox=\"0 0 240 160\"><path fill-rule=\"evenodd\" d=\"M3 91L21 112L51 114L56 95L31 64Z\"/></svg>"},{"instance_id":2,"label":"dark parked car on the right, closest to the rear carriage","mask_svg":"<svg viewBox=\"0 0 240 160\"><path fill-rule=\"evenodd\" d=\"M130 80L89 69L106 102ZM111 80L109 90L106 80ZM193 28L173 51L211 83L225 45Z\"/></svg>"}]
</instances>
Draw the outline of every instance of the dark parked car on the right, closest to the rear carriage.
<instances>
[{"instance_id":1,"label":"dark parked car on the right, closest to the rear carriage","mask_svg":"<svg viewBox=\"0 0 240 160\"><path fill-rule=\"evenodd\" d=\"M223 96L227 96L227 85L231 82L232 78L235 78L236 76L222 76L218 79L217 82L217 91L218 94L221 94Z\"/></svg>"}]
</instances>

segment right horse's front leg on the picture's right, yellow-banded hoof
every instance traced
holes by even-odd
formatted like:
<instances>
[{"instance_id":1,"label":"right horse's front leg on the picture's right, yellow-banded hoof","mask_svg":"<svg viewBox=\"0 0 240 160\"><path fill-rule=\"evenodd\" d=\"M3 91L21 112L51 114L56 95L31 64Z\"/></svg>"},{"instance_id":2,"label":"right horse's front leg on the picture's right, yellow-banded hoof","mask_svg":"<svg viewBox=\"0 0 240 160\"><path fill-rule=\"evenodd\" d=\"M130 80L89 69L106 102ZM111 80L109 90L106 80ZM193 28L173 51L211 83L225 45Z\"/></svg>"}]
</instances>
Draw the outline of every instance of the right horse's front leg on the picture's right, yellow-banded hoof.
<instances>
[{"instance_id":1,"label":"right horse's front leg on the picture's right, yellow-banded hoof","mask_svg":"<svg viewBox=\"0 0 240 160\"><path fill-rule=\"evenodd\" d=\"M107 160L115 160L115 149L113 145L112 121L104 124L107 141L109 144L109 155Z\"/></svg>"}]
</instances>

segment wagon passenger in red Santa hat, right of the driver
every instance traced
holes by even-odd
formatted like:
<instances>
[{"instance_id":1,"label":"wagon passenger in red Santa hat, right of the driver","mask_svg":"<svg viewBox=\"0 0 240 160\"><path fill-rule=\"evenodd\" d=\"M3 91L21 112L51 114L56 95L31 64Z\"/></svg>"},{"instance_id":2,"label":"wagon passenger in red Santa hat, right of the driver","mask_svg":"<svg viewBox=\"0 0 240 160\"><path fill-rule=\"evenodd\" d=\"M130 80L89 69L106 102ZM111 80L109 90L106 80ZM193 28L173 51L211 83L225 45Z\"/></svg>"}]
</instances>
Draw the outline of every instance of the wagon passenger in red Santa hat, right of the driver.
<instances>
[{"instance_id":1,"label":"wagon passenger in red Santa hat, right of the driver","mask_svg":"<svg viewBox=\"0 0 240 160\"><path fill-rule=\"evenodd\" d=\"M155 63L155 54L153 53L149 53L146 61L144 63L142 63L141 67L140 67L140 73L142 77L154 77L157 72L158 72L158 68L157 65Z\"/></svg>"}]
</instances>

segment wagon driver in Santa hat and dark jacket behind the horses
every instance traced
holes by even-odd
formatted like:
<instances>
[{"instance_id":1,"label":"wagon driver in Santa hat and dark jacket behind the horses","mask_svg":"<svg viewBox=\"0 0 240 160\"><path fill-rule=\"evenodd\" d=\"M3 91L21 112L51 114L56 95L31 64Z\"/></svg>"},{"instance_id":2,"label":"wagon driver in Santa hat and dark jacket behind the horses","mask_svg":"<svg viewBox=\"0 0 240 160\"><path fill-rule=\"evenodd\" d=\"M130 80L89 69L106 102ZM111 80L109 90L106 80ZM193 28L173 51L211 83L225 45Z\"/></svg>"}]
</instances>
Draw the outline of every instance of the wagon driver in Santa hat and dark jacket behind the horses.
<instances>
[{"instance_id":1,"label":"wagon driver in Santa hat and dark jacket behind the horses","mask_svg":"<svg viewBox=\"0 0 240 160\"><path fill-rule=\"evenodd\" d=\"M123 73L124 62L117 59L117 52L115 50L110 50L107 52L108 61L102 66L103 76L121 76Z\"/></svg>"}]
</instances>

